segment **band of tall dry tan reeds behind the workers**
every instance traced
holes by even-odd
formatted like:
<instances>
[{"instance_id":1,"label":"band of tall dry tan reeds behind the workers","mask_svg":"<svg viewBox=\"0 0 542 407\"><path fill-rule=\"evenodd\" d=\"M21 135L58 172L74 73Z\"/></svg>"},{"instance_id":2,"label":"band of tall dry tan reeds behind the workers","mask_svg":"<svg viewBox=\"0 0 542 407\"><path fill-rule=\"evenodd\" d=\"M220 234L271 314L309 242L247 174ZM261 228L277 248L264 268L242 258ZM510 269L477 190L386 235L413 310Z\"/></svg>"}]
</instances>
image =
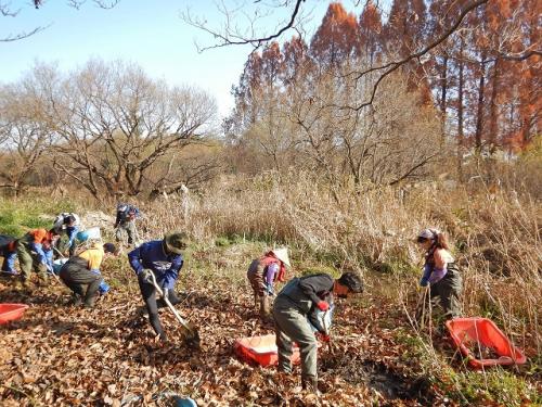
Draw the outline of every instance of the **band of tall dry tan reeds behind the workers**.
<instances>
[{"instance_id":1,"label":"band of tall dry tan reeds behind the workers","mask_svg":"<svg viewBox=\"0 0 542 407\"><path fill-rule=\"evenodd\" d=\"M465 315L490 316L519 345L540 354L538 202L504 190L448 190L439 183L421 186L403 200L392 188L344 188L338 199L311 174L222 179L204 195L190 196L188 212L176 196L149 204L153 215L144 226L149 236L185 229L199 242L228 236L287 243L297 249L298 264L313 255L359 269L367 281L374 271L385 275L389 298L400 306L415 292L422 266L413 238L436 226L450 234L461 265Z\"/></svg>"}]
</instances>

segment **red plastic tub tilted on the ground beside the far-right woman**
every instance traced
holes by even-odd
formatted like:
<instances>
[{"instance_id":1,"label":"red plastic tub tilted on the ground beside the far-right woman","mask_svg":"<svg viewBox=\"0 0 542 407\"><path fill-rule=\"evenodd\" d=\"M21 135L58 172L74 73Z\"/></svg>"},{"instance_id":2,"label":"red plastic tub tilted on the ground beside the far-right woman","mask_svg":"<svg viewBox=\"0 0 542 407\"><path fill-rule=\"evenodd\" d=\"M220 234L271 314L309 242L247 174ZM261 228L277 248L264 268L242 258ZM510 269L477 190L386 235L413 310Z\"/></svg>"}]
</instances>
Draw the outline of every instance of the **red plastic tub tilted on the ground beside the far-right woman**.
<instances>
[{"instance_id":1,"label":"red plastic tub tilted on the ground beside the far-right woman","mask_svg":"<svg viewBox=\"0 0 542 407\"><path fill-rule=\"evenodd\" d=\"M487 318L455 318L446 322L453 342L461 353L468 358L475 368L490 366L522 365L525 355L506 338L506 335ZM481 347L490 348L499 358L476 358L473 351Z\"/></svg>"}]
</instances>

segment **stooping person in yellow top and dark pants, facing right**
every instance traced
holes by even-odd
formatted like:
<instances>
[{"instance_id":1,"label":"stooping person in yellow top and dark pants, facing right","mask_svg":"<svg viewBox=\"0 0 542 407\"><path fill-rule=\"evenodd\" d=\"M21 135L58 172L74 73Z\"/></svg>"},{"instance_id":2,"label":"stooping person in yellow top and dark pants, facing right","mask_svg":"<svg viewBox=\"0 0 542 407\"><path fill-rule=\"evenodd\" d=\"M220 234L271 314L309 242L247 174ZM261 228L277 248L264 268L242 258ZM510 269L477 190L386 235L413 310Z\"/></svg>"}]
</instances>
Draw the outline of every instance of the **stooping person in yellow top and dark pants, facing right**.
<instances>
[{"instance_id":1,"label":"stooping person in yellow top and dark pants, facing right","mask_svg":"<svg viewBox=\"0 0 542 407\"><path fill-rule=\"evenodd\" d=\"M85 252L73 256L61 268L60 278L74 293L74 305L80 305L85 301L85 307L92 308L103 278L100 266L107 254L116 255L117 247L113 243L103 246L96 244ZM82 285L87 285L83 293Z\"/></svg>"}]
</instances>

